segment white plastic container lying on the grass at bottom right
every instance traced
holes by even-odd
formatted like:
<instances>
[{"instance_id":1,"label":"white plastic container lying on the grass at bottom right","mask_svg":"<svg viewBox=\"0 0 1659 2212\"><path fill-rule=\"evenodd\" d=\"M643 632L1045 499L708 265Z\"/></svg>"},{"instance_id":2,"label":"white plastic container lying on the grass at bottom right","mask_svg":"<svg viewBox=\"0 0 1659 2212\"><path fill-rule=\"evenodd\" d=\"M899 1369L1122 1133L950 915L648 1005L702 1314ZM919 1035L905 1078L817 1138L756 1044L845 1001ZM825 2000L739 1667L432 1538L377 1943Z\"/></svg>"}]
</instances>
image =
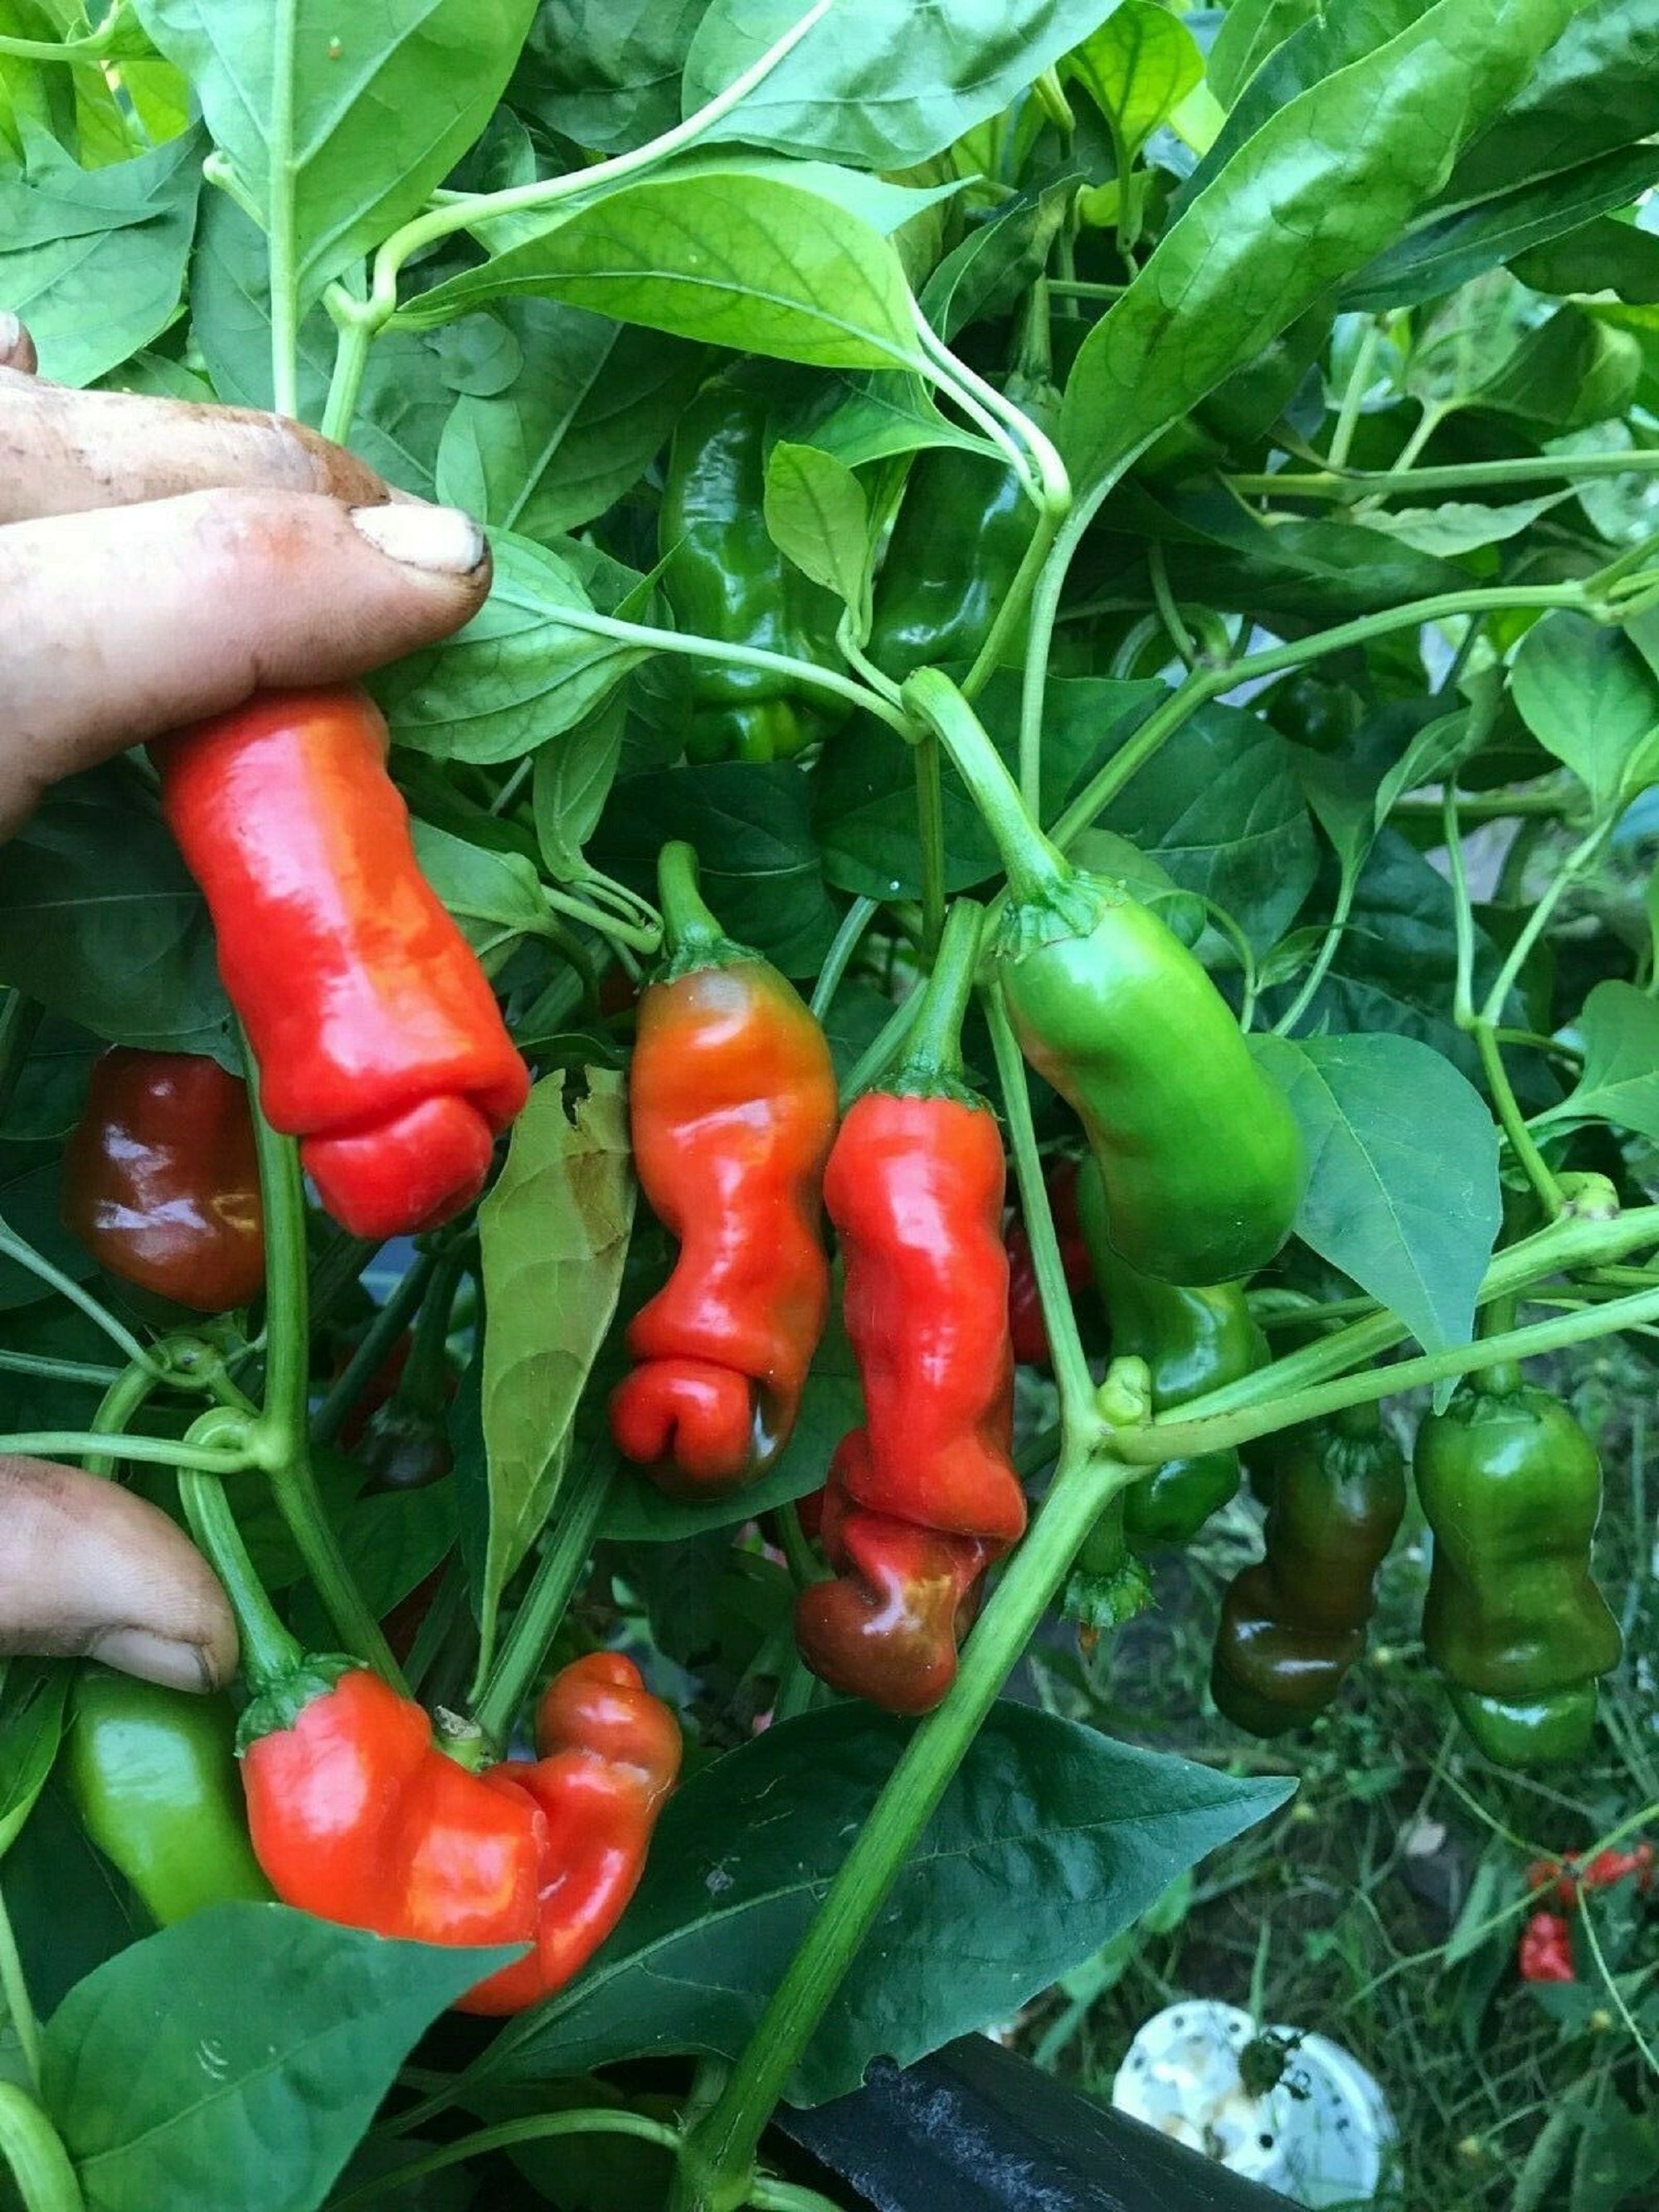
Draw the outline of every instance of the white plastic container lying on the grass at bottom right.
<instances>
[{"instance_id":1,"label":"white plastic container lying on the grass at bottom right","mask_svg":"<svg viewBox=\"0 0 1659 2212\"><path fill-rule=\"evenodd\" d=\"M1128 2046L1113 2104L1294 2203L1378 2201L1398 2135L1378 2084L1329 2037L1267 2028L1285 2051L1283 2075L1252 2095L1239 2059L1259 2033L1237 2004L1170 2004Z\"/></svg>"}]
</instances>

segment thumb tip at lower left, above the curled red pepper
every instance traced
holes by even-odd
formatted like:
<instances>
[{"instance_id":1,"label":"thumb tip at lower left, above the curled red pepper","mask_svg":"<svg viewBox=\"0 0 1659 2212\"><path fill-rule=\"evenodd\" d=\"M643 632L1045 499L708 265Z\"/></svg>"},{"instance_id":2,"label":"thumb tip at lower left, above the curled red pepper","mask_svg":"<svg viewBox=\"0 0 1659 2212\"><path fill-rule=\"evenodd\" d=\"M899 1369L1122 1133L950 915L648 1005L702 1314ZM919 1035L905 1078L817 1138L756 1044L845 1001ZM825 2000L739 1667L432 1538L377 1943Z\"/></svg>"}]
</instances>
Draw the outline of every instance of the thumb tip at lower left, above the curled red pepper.
<instances>
[{"instance_id":1,"label":"thumb tip at lower left, above the curled red pepper","mask_svg":"<svg viewBox=\"0 0 1659 2212\"><path fill-rule=\"evenodd\" d=\"M102 1659L173 1690L217 1690L237 1670L237 1624L166 1513L77 1467L4 1453L0 1652Z\"/></svg>"}]
</instances>

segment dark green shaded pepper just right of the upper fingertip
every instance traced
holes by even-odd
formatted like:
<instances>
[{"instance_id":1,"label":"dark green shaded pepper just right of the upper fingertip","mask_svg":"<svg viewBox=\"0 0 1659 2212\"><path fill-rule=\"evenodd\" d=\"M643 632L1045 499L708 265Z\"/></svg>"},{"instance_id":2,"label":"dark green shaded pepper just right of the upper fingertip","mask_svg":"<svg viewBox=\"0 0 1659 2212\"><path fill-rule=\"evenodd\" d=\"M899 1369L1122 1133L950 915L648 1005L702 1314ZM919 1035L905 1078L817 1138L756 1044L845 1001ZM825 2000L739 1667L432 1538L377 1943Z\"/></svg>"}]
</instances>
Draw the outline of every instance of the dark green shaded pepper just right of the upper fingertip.
<instances>
[{"instance_id":1,"label":"dark green shaded pepper just right of the upper fingertip","mask_svg":"<svg viewBox=\"0 0 1659 2212\"><path fill-rule=\"evenodd\" d=\"M841 668L841 602L765 529L765 398L717 376L679 418L668 453L661 588L681 630ZM692 761L787 761L847 719L830 692L803 697L763 668L692 664Z\"/></svg>"}]
</instances>

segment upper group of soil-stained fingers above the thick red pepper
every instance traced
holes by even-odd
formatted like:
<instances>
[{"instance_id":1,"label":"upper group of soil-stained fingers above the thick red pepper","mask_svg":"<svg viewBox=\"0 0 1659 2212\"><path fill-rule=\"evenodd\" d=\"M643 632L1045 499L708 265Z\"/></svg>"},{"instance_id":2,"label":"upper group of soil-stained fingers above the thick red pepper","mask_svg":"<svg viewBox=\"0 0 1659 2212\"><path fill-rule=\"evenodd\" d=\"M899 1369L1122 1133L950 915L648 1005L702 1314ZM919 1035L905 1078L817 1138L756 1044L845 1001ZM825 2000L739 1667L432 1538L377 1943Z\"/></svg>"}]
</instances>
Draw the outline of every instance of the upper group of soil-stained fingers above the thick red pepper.
<instances>
[{"instance_id":1,"label":"upper group of soil-stained fingers above the thick red pepper","mask_svg":"<svg viewBox=\"0 0 1659 2212\"><path fill-rule=\"evenodd\" d=\"M71 392L0 312L0 836L46 785L458 630L482 531L281 416Z\"/></svg>"}]
</instances>

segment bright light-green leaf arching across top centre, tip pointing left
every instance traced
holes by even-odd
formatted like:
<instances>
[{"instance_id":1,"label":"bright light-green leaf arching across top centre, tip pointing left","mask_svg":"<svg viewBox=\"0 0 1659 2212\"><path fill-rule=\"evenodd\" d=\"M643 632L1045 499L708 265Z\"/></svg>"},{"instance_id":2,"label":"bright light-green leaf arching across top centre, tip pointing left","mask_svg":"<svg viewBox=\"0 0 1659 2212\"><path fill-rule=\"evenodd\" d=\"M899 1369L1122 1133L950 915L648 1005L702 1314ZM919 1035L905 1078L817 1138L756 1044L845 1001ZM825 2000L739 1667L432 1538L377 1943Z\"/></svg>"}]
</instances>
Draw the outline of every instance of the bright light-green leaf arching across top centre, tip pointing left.
<instances>
[{"instance_id":1,"label":"bright light-green leaf arching across top centre, tip pointing left","mask_svg":"<svg viewBox=\"0 0 1659 2212\"><path fill-rule=\"evenodd\" d=\"M422 327L549 294L679 338L825 369L918 367L894 246L838 199L741 157L688 161L542 219L403 310Z\"/></svg>"}]
</instances>

